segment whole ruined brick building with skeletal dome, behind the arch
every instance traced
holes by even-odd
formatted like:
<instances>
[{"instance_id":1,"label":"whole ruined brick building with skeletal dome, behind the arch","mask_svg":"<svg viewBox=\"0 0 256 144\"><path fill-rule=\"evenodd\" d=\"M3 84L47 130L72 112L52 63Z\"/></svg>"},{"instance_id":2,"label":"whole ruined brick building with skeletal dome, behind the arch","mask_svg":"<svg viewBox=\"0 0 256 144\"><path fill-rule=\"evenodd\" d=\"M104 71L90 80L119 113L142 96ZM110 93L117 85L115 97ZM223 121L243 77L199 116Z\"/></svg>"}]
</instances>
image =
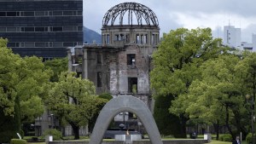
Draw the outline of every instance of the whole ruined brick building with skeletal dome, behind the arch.
<instances>
[{"instance_id":1,"label":"whole ruined brick building with skeletal dome, behind the arch","mask_svg":"<svg viewBox=\"0 0 256 144\"><path fill-rule=\"evenodd\" d=\"M120 3L103 17L102 44L68 50L69 71L90 79L98 95L132 95L152 109L149 72L159 41L160 27L151 9L140 3ZM115 121L130 118L131 113L122 112Z\"/></svg>"}]
</instances>

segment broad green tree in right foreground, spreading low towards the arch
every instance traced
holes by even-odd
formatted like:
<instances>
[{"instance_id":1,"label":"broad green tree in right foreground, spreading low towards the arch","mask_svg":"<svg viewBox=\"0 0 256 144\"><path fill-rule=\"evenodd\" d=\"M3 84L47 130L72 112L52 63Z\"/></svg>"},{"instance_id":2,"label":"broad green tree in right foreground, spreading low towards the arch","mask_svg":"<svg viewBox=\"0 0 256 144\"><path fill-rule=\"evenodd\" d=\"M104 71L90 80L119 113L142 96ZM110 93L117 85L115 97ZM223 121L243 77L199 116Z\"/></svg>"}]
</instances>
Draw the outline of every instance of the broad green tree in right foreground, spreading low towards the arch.
<instances>
[{"instance_id":1,"label":"broad green tree in right foreground, spreading low towards the arch","mask_svg":"<svg viewBox=\"0 0 256 144\"><path fill-rule=\"evenodd\" d=\"M196 79L185 93L172 102L173 113L185 112L194 121L224 124L233 138L247 134L247 109L241 72L236 71L241 60L236 55L220 55L201 67L201 79ZM236 129L232 129L236 127Z\"/></svg>"}]
</instances>

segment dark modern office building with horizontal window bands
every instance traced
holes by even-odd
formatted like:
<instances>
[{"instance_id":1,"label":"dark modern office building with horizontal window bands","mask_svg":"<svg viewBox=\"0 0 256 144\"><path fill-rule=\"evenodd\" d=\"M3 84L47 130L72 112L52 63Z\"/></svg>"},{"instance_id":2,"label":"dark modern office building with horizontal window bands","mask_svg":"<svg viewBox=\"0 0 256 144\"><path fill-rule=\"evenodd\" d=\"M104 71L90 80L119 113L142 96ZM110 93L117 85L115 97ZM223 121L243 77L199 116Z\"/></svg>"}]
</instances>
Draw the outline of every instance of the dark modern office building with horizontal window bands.
<instances>
[{"instance_id":1,"label":"dark modern office building with horizontal window bands","mask_svg":"<svg viewBox=\"0 0 256 144\"><path fill-rule=\"evenodd\" d=\"M0 0L0 37L21 56L64 57L83 43L83 0Z\"/></svg>"}]
</instances>

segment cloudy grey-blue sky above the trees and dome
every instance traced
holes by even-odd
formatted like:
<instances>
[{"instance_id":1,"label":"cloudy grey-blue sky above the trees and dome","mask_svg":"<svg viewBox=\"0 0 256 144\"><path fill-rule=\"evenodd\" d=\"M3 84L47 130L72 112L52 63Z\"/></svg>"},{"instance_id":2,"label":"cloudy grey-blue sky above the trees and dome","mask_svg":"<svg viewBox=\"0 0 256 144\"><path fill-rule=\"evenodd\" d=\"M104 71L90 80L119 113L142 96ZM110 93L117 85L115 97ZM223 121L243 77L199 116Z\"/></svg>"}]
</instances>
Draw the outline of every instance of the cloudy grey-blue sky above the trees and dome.
<instances>
[{"instance_id":1,"label":"cloudy grey-blue sky above the trees and dome","mask_svg":"<svg viewBox=\"0 0 256 144\"><path fill-rule=\"evenodd\" d=\"M158 17L160 32L179 27L211 27L214 37L223 37L223 27L241 28L241 41L252 42L256 34L255 0L84 0L84 26L101 33L102 18L119 3L142 3Z\"/></svg>"}]
</instances>

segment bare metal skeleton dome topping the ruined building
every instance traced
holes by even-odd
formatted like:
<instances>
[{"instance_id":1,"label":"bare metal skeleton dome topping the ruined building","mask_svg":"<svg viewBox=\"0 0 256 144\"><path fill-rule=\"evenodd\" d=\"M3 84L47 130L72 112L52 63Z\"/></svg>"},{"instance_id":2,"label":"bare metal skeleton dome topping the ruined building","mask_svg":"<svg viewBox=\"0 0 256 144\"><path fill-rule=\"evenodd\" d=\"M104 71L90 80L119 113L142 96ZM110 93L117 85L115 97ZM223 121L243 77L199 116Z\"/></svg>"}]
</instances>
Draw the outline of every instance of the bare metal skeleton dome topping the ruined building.
<instances>
[{"instance_id":1,"label":"bare metal skeleton dome topping the ruined building","mask_svg":"<svg viewBox=\"0 0 256 144\"><path fill-rule=\"evenodd\" d=\"M110 25L113 26L115 20L119 16L119 25L122 26L125 14L128 14L128 25L133 25L132 16L135 14L137 17L137 25L159 26L157 17L154 12L140 3L120 3L115 5L104 15L102 25L108 26L108 23L110 22ZM146 24L143 24L143 21L145 21Z\"/></svg>"}]
</instances>

